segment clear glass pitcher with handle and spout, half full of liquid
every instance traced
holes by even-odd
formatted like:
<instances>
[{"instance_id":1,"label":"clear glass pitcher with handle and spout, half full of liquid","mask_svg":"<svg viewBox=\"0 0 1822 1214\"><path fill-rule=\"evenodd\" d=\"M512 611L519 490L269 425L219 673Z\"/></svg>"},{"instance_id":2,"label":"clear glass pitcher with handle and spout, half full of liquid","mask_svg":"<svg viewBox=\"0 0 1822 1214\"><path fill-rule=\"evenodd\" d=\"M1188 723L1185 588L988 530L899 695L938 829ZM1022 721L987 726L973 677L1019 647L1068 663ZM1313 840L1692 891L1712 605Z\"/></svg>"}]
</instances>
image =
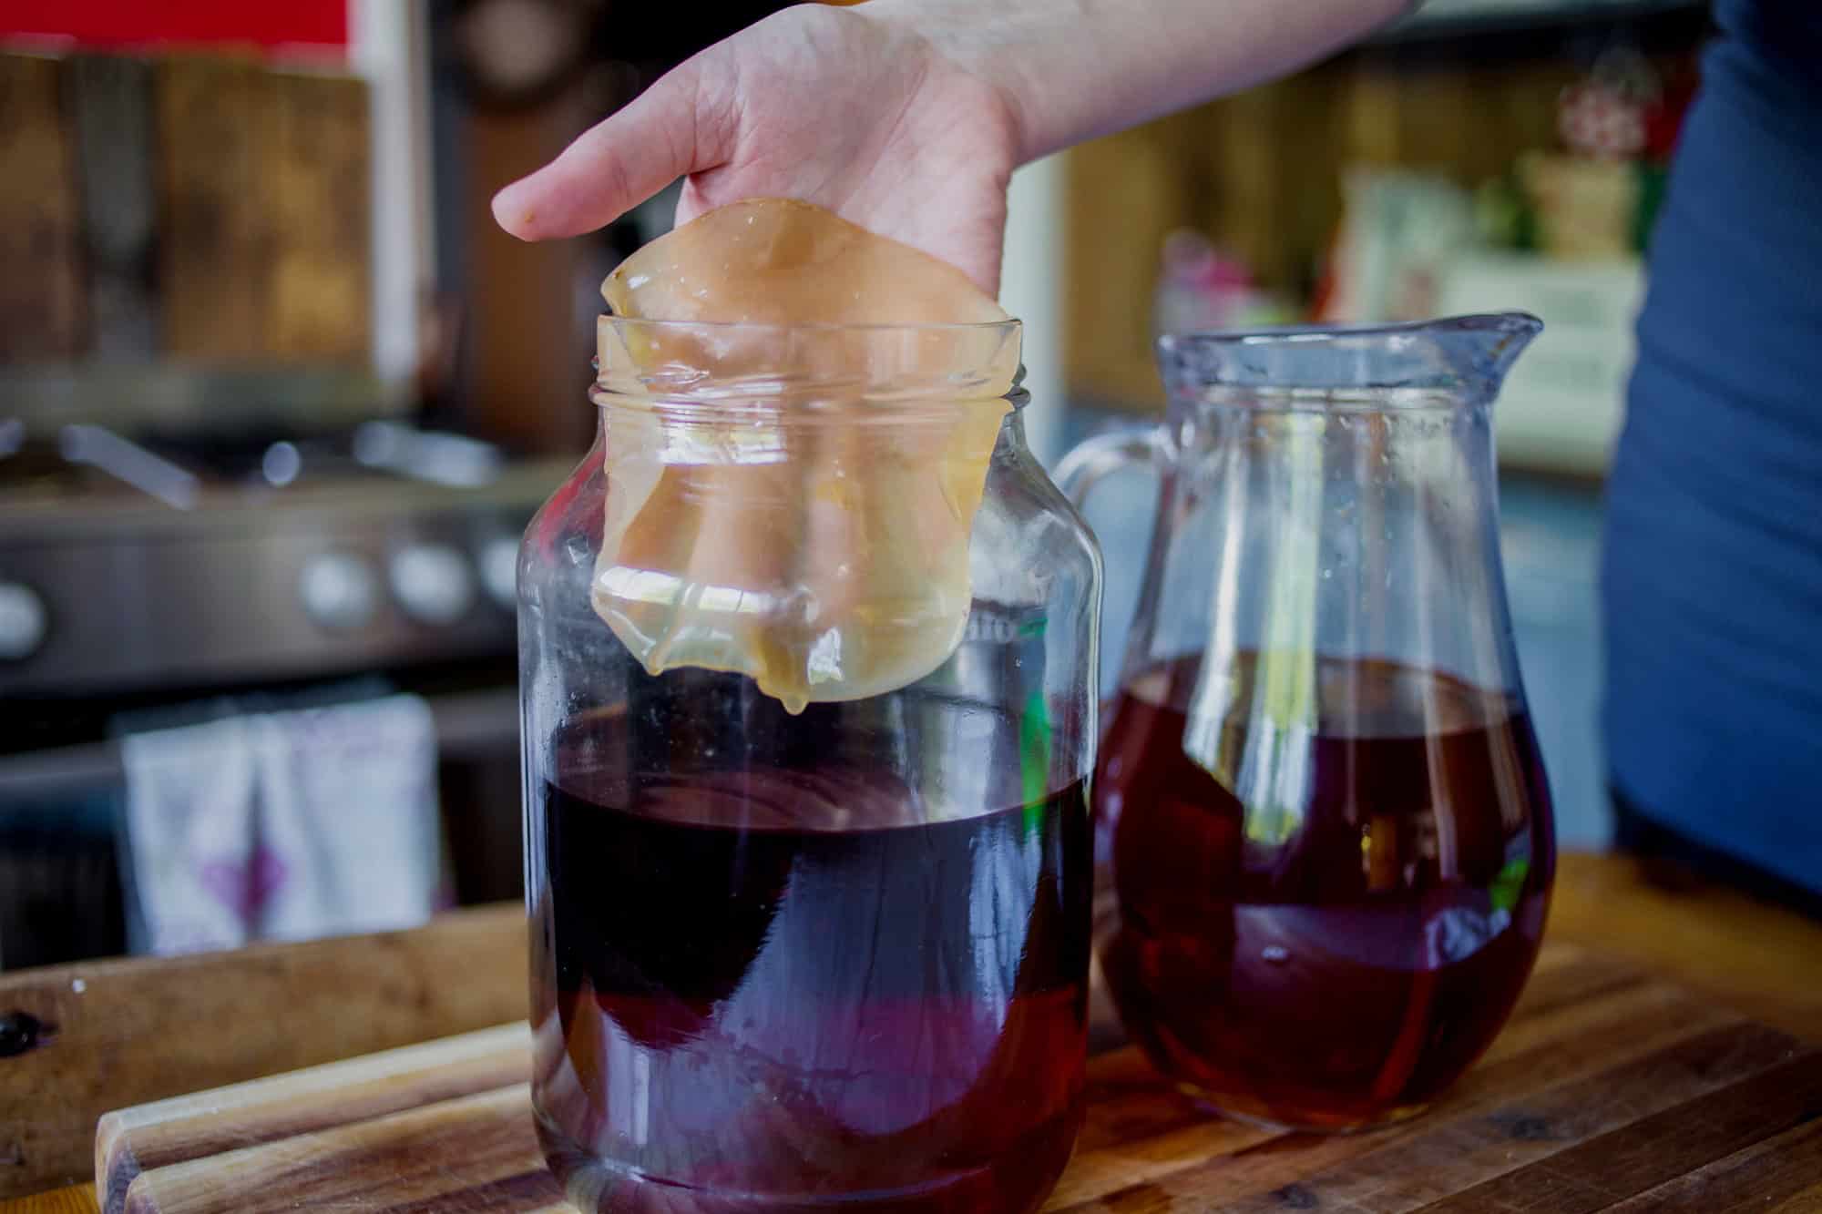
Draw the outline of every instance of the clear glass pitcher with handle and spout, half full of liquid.
<instances>
[{"instance_id":1,"label":"clear glass pitcher with handle and spout, half full of liquid","mask_svg":"<svg viewBox=\"0 0 1822 1214\"><path fill-rule=\"evenodd\" d=\"M1530 315L1159 341L1161 496L1095 767L1097 957L1192 1096L1423 1110L1530 972L1551 797L1500 567L1492 401Z\"/></svg>"}]
</instances>

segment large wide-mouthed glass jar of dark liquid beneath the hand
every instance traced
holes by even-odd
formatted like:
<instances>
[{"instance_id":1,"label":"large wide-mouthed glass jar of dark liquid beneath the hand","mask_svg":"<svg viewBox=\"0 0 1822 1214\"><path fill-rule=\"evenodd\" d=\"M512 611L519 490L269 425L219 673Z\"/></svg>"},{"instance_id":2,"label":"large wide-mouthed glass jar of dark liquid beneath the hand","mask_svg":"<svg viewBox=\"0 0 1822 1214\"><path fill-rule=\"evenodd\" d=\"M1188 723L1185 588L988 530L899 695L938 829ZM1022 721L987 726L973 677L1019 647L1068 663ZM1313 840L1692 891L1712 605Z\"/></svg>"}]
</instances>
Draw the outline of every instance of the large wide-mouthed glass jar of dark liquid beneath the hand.
<instances>
[{"instance_id":1,"label":"large wide-mouthed glass jar of dark liquid beneath the hand","mask_svg":"<svg viewBox=\"0 0 1822 1214\"><path fill-rule=\"evenodd\" d=\"M601 605L627 434L663 472L763 450L794 483L822 427L865 476L1017 366L1018 326L603 326L773 354L603 372L596 445L521 550L545 1154L585 1210L1037 1209L1082 1121L1100 558L1026 447L1024 394L986 434L960 642L909 685L798 705L743 673L652 674ZM864 530L862 580L891 560Z\"/></svg>"}]
</instances>

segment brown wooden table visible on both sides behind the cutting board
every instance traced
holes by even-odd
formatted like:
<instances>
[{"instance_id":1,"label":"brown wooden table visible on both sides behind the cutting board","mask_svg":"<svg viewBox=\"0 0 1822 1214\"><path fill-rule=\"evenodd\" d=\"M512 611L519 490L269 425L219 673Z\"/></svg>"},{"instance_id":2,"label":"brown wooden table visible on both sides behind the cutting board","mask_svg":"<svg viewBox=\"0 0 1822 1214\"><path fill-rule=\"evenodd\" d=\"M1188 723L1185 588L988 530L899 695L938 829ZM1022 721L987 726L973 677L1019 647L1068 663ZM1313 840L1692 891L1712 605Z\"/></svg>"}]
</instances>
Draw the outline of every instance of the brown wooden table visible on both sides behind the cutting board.
<instances>
[{"instance_id":1,"label":"brown wooden table visible on both sides behind the cutting board","mask_svg":"<svg viewBox=\"0 0 1822 1214\"><path fill-rule=\"evenodd\" d=\"M1822 1043L1818 922L1565 855L1549 933ZM56 1035L0 1057L0 1214L95 1210L100 1112L516 1019L525 922L499 906L415 931L31 970L0 975L9 1010Z\"/></svg>"}]
</instances>

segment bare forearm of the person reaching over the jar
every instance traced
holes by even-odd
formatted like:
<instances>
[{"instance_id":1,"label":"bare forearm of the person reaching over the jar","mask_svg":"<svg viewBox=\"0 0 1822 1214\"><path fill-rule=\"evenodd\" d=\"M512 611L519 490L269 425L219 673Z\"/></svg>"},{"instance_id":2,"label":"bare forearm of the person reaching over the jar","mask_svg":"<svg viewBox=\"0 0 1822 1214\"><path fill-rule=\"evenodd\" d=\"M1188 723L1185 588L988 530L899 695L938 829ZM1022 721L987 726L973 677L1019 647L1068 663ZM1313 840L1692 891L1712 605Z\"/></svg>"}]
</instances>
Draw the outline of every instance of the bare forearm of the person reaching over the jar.
<instances>
[{"instance_id":1,"label":"bare forearm of the person reaching over the jar","mask_svg":"<svg viewBox=\"0 0 1822 1214\"><path fill-rule=\"evenodd\" d=\"M871 0L998 86L1020 160L1281 77L1412 0Z\"/></svg>"}]
</instances>

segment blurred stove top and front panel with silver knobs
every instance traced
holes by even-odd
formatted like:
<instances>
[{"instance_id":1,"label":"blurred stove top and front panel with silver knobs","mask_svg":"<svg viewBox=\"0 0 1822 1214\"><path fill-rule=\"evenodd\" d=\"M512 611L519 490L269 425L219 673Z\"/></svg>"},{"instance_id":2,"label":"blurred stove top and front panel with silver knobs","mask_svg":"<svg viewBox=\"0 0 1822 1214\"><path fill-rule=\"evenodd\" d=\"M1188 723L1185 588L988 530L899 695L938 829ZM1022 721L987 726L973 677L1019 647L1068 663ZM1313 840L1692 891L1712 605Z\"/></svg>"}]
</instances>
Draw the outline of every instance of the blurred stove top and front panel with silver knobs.
<instances>
[{"instance_id":1,"label":"blurred stove top and front panel with silver knobs","mask_svg":"<svg viewBox=\"0 0 1822 1214\"><path fill-rule=\"evenodd\" d=\"M519 534L570 467L394 421L206 445L0 421L0 698L507 656Z\"/></svg>"}]
</instances>

